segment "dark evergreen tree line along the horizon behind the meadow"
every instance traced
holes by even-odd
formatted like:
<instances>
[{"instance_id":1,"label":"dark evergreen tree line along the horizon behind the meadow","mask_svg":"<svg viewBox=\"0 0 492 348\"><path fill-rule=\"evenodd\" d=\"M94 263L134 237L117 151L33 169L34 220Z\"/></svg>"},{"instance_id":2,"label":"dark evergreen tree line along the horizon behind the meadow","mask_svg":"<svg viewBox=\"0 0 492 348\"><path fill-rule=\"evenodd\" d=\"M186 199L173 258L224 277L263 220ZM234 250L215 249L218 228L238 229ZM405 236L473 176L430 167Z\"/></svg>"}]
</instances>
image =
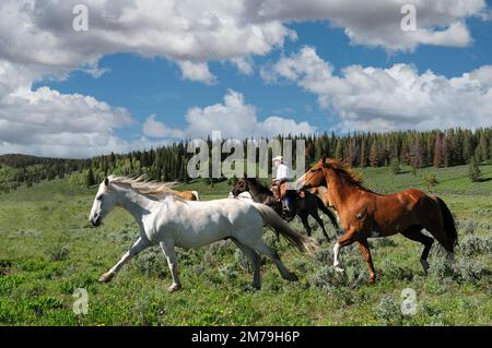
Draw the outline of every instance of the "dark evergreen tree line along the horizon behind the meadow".
<instances>
[{"instance_id":1,"label":"dark evergreen tree line along the horizon behind the meadow","mask_svg":"<svg viewBox=\"0 0 492 348\"><path fill-rule=\"evenodd\" d=\"M441 168L469 164L470 176L472 172L476 176L481 164L492 161L492 128L278 136L281 143L284 139L305 141L306 167L325 155L344 159L353 167L390 166L395 172L401 165L417 170L429 166ZM208 141L211 144L211 140ZM246 140L243 146L246 153ZM3 155L0 156L0 192L67 175L71 175L71 184L86 187L110 173L187 182L190 180L187 165L194 155L187 153L187 148L188 142L180 141L157 148L112 153L89 159ZM222 156L225 158L227 154Z\"/></svg>"}]
</instances>

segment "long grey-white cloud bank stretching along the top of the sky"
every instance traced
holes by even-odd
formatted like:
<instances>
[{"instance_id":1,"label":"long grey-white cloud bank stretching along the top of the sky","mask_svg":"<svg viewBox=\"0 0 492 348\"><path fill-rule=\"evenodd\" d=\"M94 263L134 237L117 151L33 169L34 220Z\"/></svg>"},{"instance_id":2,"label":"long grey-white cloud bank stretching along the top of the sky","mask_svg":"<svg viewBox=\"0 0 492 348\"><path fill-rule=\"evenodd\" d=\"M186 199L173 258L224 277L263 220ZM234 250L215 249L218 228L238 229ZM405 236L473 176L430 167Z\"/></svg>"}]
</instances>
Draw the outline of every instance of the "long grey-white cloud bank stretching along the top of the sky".
<instances>
[{"instance_id":1,"label":"long grey-white cloud bank stretching along the top of the sky","mask_svg":"<svg viewBox=\"0 0 492 348\"><path fill-rule=\"evenodd\" d=\"M79 2L2 0L0 57L52 74L91 64L97 74L101 57L136 52L171 59L184 77L210 83L208 61L231 60L249 72L249 57L295 39L288 27L293 21L327 21L353 44L412 50L420 44L468 45L465 20L487 10L484 0L86 0L89 31L75 32ZM400 29L403 4L417 8L415 32Z\"/></svg>"}]
</instances>

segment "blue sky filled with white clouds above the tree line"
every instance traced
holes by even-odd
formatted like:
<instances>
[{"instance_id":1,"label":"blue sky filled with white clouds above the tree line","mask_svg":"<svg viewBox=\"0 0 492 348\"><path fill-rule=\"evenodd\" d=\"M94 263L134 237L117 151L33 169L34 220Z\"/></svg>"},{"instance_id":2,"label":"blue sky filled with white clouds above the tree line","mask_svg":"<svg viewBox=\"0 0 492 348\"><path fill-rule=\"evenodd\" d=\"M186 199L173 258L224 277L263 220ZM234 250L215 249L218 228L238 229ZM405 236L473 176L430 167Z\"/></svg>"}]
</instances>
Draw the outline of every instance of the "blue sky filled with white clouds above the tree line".
<instances>
[{"instance_id":1,"label":"blue sky filled with white clouds above the tree line","mask_svg":"<svg viewBox=\"0 0 492 348\"><path fill-rule=\"evenodd\" d=\"M214 11L200 12L202 3L190 1L165 14L167 22L189 20L185 32L162 25L160 9L147 12L159 3L152 0L136 0L138 5L121 5L117 13L114 1L87 1L92 26L86 33L63 31L73 1L62 8L50 0L25 1L36 3L30 19L38 29L30 33L17 23L25 16L15 17L25 8L13 0L0 5L3 23L19 24L17 37L5 36L11 44L0 49L0 75L3 69L7 77L19 76L0 88L0 125L3 121L4 130L24 130L33 139L16 143L20 136L2 135L0 129L3 153L84 157L206 136L212 129L243 137L492 123L490 1L420 4L415 33L399 29L398 0L375 1L374 9L359 0L347 7L311 0L297 7L285 0L285 8L262 0L261 11L239 13L214 1ZM155 12L156 22L121 26L124 10L150 21ZM376 20L386 12L391 16ZM104 23L107 17L115 23ZM188 31L197 23L206 24ZM149 44L148 37L157 41ZM238 69L236 58L249 62L253 72ZM87 65L104 73L87 73ZM8 113L12 105L25 120Z\"/></svg>"}]
</instances>

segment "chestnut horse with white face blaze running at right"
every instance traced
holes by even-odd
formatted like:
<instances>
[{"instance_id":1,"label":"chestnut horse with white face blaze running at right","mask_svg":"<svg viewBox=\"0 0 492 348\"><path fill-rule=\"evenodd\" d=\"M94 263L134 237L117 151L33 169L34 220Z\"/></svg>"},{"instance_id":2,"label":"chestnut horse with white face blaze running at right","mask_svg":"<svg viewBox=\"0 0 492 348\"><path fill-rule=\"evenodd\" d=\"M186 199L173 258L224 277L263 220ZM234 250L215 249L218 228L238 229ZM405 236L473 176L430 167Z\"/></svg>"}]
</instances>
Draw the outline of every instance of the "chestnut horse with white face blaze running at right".
<instances>
[{"instance_id":1,"label":"chestnut horse with white face blaze running at right","mask_svg":"<svg viewBox=\"0 0 492 348\"><path fill-rule=\"evenodd\" d=\"M367 263L371 280L375 279L374 265L367 243L370 237L388 237L401 233L424 245L420 262L424 272L429 269L427 256L434 239L422 233L426 229L454 256L458 241L455 219L440 197L422 191L379 194L362 185L362 179L342 161L323 157L301 177L296 189L326 187L327 200L338 212L341 228L345 233L333 248L333 267L343 272L338 260L340 249L353 242Z\"/></svg>"}]
</instances>

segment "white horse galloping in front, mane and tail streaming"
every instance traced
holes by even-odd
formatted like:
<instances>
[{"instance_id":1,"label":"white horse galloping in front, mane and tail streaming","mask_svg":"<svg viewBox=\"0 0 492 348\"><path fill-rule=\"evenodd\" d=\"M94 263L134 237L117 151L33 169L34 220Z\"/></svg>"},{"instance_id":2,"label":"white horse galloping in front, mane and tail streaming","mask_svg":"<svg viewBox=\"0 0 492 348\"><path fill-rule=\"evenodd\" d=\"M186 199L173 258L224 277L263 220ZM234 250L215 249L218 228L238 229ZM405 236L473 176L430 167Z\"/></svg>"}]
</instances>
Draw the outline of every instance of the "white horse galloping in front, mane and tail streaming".
<instances>
[{"instance_id":1,"label":"white horse galloping in front, mane and tail streaming","mask_svg":"<svg viewBox=\"0 0 492 348\"><path fill-rule=\"evenodd\" d=\"M301 251L311 252L316 248L311 239L295 232L266 205L229 199L189 202L176 196L163 183L126 177L106 178L95 196L91 224L99 226L116 206L121 206L134 217L140 226L140 238L113 268L101 276L98 280L102 283L110 281L121 266L139 252L159 244L173 277L168 290L178 290L180 281L175 247L199 248L231 239L253 263L253 286L259 289L261 259L258 254L270 257L284 279L297 279L286 269L277 252L261 240L263 225L273 228Z\"/></svg>"}]
</instances>

